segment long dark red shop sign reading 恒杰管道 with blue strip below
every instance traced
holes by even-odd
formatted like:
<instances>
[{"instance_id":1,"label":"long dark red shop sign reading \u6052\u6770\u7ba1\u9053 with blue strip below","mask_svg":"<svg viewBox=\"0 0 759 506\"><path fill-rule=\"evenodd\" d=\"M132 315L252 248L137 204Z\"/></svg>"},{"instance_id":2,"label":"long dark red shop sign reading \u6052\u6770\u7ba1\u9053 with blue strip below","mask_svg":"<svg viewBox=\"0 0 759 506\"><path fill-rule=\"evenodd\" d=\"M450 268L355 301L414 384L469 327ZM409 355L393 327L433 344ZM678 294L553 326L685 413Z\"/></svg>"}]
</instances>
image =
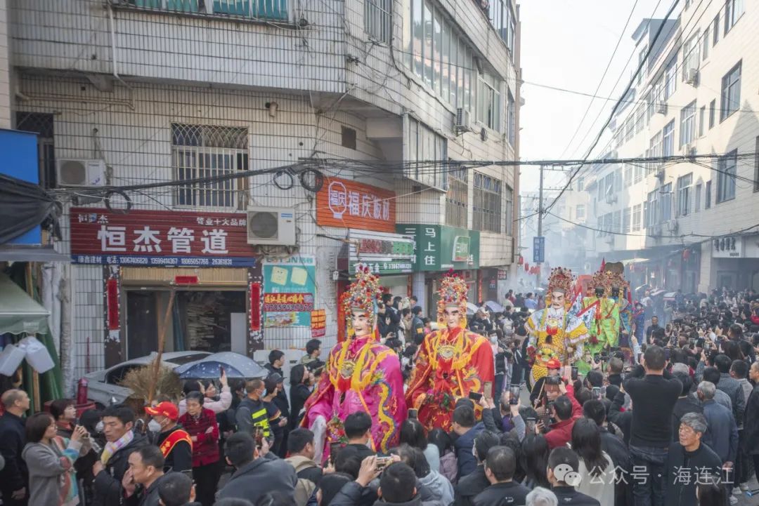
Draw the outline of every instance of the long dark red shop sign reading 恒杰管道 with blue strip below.
<instances>
[{"instance_id":1,"label":"long dark red shop sign reading \u6052\u6770\u7ba1\u9053 with blue strip below","mask_svg":"<svg viewBox=\"0 0 759 506\"><path fill-rule=\"evenodd\" d=\"M75 264L143 267L250 267L247 220L241 213L71 209Z\"/></svg>"}]
</instances>

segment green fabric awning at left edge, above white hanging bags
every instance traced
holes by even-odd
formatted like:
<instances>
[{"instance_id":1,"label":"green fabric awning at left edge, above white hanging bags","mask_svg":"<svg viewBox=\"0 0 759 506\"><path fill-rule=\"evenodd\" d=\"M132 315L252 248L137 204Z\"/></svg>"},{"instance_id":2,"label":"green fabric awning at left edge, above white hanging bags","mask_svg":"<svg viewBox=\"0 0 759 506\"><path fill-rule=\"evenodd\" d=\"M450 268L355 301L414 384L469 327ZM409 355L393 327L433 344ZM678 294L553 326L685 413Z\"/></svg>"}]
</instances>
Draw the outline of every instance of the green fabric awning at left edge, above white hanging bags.
<instances>
[{"instance_id":1,"label":"green fabric awning at left edge, above white hanging bags","mask_svg":"<svg viewBox=\"0 0 759 506\"><path fill-rule=\"evenodd\" d=\"M11 278L0 274L0 334L48 332L49 311L37 304Z\"/></svg>"}]
</instances>

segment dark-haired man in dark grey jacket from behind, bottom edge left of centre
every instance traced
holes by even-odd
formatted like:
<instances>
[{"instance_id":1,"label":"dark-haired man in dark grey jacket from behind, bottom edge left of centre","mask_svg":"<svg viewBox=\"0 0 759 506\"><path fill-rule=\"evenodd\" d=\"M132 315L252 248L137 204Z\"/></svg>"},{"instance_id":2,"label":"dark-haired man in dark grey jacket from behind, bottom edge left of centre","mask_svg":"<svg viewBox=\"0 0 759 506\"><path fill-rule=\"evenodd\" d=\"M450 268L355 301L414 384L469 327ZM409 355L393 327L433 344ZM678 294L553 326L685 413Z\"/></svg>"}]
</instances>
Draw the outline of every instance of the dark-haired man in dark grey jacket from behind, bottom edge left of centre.
<instances>
[{"instance_id":1,"label":"dark-haired man in dark grey jacket from behind, bottom edge left of centre","mask_svg":"<svg viewBox=\"0 0 759 506\"><path fill-rule=\"evenodd\" d=\"M295 485L298 476L294 467L268 452L268 444L263 442L261 452L256 448L252 436L247 433L232 434L224 445L227 464L235 467L216 499L247 499L256 504L258 499L270 490L281 493L288 504L295 504Z\"/></svg>"}]
</instances>

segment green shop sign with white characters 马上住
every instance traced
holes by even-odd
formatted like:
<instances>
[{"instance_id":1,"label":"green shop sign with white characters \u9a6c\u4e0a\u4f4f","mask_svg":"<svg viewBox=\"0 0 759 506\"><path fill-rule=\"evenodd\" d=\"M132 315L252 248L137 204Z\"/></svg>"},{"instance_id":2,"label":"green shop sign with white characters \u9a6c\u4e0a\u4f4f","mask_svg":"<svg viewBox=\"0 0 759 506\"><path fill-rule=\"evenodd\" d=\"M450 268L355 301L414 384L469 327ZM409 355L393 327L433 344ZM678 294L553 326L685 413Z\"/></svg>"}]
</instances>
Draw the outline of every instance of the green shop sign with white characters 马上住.
<instances>
[{"instance_id":1,"label":"green shop sign with white characters \u9a6c\u4e0a\u4f4f","mask_svg":"<svg viewBox=\"0 0 759 506\"><path fill-rule=\"evenodd\" d=\"M466 270L480 267L480 233L446 225L398 224L395 230L414 236L415 271Z\"/></svg>"}]
</instances>

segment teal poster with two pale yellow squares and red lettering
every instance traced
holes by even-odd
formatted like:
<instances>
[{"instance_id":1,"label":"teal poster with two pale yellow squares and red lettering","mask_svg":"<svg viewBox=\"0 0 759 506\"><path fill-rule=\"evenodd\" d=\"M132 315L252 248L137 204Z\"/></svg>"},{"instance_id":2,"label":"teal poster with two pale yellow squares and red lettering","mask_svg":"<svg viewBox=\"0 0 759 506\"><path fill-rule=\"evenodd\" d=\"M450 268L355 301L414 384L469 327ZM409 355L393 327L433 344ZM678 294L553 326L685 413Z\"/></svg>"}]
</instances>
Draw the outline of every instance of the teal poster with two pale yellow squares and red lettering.
<instances>
[{"instance_id":1,"label":"teal poster with two pale yellow squares and red lettering","mask_svg":"<svg viewBox=\"0 0 759 506\"><path fill-rule=\"evenodd\" d=\"M311 326L316 266L313 255L263 261L263 326Z\"/></svg>"}]
</instances>

